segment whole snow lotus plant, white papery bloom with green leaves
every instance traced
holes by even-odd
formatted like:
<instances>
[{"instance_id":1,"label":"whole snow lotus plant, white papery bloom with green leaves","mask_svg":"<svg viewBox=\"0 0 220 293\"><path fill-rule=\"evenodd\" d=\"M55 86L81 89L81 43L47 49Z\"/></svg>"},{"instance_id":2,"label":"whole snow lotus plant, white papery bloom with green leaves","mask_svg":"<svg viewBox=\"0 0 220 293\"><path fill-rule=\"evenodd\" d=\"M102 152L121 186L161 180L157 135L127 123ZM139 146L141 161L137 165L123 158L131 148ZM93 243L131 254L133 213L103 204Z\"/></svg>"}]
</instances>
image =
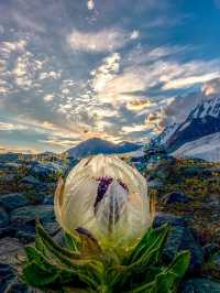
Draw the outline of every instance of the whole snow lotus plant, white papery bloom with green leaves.
<instances>
[{"instance_id":1,"label":"whole snow lotus plant, white papery bloom with green leaves","mask_svg":"<svg viewBox=\"0 0 220 293\"><path fill-rule=\"evenodd\" d=\"M65 231L58 246L36 223L28 247L23 280L45 292L175 292L189 265L182 251L162 261L168 226L153 229L145 178L117 156L81 160L59 180L57 221Z\"/></svg>"}]
</instances>

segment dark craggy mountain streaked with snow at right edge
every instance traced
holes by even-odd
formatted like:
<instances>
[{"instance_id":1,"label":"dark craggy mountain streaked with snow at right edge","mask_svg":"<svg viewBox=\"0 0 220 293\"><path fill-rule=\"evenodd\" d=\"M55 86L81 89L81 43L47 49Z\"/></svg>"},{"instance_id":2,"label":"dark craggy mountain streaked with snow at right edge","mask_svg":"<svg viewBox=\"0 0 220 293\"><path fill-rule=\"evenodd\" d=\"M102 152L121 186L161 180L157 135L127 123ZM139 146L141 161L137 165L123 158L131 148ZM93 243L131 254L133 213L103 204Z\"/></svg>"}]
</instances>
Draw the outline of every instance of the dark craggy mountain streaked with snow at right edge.
<instances>
[{"instance_id":1,"label":"dark craggy mountain streaked with snow at right edge","mask_svg":"<svg viewBox=\"0 0 220 293\"><path fill-rule=\"evenodd\" d=\"M167 138L172 127L165 129L161 137ZM162 139L160 143L165 144L169 151L179 149L185 143L199 140L202 137L220 132L220 98L207 99L196 106L187 119L176 127L168 139Z\"/></svg>"}]
</instances>

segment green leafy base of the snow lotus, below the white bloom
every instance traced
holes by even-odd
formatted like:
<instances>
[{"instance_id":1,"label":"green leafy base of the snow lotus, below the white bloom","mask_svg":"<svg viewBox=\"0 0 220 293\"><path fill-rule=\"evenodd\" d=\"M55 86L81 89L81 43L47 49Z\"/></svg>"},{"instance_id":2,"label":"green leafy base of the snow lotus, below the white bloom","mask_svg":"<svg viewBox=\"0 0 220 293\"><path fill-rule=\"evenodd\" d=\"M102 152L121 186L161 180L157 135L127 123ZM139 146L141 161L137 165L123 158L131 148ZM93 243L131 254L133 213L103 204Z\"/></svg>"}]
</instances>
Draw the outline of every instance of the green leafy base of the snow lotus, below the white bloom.
<instances>
[{"instance_id":1,"label":"green leafy base of the snow lotus, below the white bloom","mask_svg":"<svg viewBox=\"0 0 220 293\"><path fill-rule=\"evenodd\" d=\"M148 228L135 247L119 257L111 248L102 251L84 230L75 237L66 234L66 247L61 247L37 223L35 246L25 248L23 281L45 292L175 292L190 257L183 251L164 265L161 257L167 234L167 225Z\"/></svg>"}]
</instances>

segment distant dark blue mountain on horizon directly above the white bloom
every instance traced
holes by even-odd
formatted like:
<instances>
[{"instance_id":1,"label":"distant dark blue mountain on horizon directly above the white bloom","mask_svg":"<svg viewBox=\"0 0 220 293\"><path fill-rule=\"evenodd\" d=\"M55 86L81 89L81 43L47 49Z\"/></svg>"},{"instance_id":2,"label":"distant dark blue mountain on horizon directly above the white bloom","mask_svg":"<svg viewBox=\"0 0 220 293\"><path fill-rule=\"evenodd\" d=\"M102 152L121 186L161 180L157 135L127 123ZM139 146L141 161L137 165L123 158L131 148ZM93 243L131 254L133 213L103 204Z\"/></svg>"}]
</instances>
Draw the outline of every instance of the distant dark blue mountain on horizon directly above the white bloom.
<instances>
[{"instance_id":1,"label":"distant dark blue mountain on horizon directly above the white bloom","mask_svg":"<svg viewBox=\"0 0 220 293\"><path fill-rule=\"evenodd\" d=\"M101 140L98 138L92 138L87 141L80 142L75 148L72 148L67 151L67 154L70 158L84 158L90 154L98 154L98 153L127 153L133 152L140 149L142 145L132 143L132 142L122 142L120 144L116 144L106 140Z\"/></svg>"}]
</instances>

